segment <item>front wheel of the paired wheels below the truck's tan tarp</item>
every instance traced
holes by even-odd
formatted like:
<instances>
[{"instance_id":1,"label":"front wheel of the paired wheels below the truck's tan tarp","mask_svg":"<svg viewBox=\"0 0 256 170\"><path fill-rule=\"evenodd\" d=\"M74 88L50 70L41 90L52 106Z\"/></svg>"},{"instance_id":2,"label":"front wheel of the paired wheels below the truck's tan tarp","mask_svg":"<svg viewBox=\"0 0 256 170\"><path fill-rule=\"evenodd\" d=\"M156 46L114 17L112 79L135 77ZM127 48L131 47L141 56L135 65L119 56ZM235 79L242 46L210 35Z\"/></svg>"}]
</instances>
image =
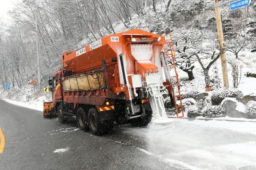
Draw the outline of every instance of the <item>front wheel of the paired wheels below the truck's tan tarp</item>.
<instances>
[{"instance_id":1,"label":"front wheel of the paired wheels below the truck's tan tarp","mask_svg":"<svg viewBox=\"0 0 256 170\"><path fill-rule=\"evenodd\" d=\"M80 128L80 130L83 131L89 131L89 125L88 125L88 114L85 113L83 108L77 109L77 124Z\"/></svg>"}]
</instances>

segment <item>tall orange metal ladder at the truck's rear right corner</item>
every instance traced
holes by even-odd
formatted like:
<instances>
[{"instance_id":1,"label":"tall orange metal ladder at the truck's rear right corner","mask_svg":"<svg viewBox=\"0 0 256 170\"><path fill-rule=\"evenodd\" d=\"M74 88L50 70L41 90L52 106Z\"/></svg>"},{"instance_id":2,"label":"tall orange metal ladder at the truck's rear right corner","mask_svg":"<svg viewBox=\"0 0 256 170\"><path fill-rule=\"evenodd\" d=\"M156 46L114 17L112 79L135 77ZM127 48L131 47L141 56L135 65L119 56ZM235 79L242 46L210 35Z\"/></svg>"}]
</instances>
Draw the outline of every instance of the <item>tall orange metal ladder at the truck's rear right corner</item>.
<instances>
[{"instance_id":1,"label":"tall orange metal ladder at the truck's rear right corner","mask_svg":"<svg viewBox=\"0 0 256 170\"><path fill-rule=\"evenodd\" d=\"M166 41L166 39L170 38L169 41ZM177 73L177 68L175 64L175 51L174 51L174 46L173 46L173 41L172 41L172 36L170 33L165 35L165 43L163 43L163 49L164 49L164 54L165 54L165 61L167 62L166 64L168 65L168 75L170 75L170 70L173 68L175 71L175 76L168 76L166 78L169 79L169 83L172 86L172 97L173 97L173 102L175 105L176 109L176 115L177 118L184 117L184 111L183 111L183 105L182 105L182 100L181 100L181 94L180 94L180 86L179 86L179 76ZM168 63L168 59L171 59L172 63ZM171 97L171 96L170 96ZM176 99L179 101L179 105L177 104Z\"/></svg>"}]
</instances>

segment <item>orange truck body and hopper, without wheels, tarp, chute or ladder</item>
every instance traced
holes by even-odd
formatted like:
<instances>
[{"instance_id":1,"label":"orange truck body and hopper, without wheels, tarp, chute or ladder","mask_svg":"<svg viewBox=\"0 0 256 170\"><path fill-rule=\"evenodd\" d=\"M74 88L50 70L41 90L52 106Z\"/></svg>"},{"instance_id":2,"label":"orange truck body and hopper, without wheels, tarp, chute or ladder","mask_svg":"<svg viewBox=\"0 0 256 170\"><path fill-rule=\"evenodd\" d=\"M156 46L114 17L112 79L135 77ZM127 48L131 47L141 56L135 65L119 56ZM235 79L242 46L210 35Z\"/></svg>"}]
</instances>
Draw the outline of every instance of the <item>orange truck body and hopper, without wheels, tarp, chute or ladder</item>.
<instances>
[{"instance_id":1,"label":"orange truck body and hopper, without wheels, tarp, chute or ladder","mask_svg":"<svg viewBox=\"0 0 256 170\"><path fill-rule=\"evenodd\" d=\"M172 84L162 76L161 51L164 43L164 36L133 29L106 36L77 51L64 52L61 56L62 67L52 76L54 112L61 103L66 105L67 117L74 117L78 107L95 107L102 117L104 114L111 115L102 120L119 119L122 122L152 111L148 96L143 91L148 83L147 75L159 74L168 93L172 93ZM104 87L63 90L63 81L99 71L103 73ZM128 107L130 109L126 109ZM110 112L113 115L107 114ZM124 114L122 119L118 114Z\"/></svg>"}]
</instances>

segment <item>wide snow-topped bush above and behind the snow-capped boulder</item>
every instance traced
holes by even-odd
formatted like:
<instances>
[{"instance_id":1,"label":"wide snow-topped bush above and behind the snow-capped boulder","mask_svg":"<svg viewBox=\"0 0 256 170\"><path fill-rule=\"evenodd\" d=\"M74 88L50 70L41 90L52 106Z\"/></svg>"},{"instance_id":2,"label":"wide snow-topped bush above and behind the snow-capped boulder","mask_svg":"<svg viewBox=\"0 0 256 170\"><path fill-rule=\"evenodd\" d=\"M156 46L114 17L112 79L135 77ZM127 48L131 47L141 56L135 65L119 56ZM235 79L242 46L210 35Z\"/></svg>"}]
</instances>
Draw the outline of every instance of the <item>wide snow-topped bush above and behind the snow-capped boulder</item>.
<instances>
[{"instance_id":1,"label":"wide snow-topped bush above and behind the snow-capped boulder","mask_svg":"<svg viewBox=\"0 0 256 170\"><path fill-rule=\"evenodd\" d=\"M224 98L242 98L243 93L237 89L224 89L212 92L212 104L219 105Z\"/></svg>"}]
</instances>

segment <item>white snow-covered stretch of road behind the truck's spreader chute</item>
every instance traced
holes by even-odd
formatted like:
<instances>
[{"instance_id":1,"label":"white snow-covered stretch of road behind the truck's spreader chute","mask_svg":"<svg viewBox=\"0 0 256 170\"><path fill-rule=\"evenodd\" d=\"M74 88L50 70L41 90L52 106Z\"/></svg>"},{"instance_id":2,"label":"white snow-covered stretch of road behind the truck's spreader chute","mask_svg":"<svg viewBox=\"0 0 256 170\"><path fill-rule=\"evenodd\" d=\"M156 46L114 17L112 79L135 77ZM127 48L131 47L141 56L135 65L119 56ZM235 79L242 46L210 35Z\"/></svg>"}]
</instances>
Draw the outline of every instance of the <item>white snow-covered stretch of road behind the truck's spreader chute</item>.
<instances>
[{"instance_id":1,"label":"white snow-covered stretch of road behind the truck's spreader chute","mask_svg":"<svg viewBox=\"0 0 256 170\"><path fill-rule=\"evenodd\" d=\"M256 170L255 122L175 119L171 124L121 129L143 138L146 147L139 149L172 167Z\"/></svg>"}]
</instances>

